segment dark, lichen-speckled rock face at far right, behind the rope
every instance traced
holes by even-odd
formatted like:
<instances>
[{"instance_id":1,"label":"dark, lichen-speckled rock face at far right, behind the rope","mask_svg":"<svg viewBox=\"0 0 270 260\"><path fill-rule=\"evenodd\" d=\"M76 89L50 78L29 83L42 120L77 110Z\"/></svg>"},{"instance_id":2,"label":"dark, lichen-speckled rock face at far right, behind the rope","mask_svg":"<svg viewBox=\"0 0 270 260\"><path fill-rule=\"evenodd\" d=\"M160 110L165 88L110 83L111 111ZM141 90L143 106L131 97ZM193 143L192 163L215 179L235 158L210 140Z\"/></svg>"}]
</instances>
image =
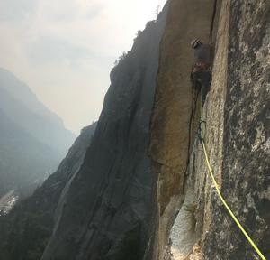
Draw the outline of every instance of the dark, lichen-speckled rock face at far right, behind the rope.
<instances>
[{"instance_id":1,"label":"dark, lichen-speckled rock face at far right, behind the rope","mask_svg":"<svg viewBox=\"0 0 270 260\"><path fill-rule=\"evenodd\" d=\"M219 177L229 206L266 259L270 257L269 42L269 1L232 0ZM217 199L211 202L204 258L260 259Z\"/></svg>"}]
</instances>

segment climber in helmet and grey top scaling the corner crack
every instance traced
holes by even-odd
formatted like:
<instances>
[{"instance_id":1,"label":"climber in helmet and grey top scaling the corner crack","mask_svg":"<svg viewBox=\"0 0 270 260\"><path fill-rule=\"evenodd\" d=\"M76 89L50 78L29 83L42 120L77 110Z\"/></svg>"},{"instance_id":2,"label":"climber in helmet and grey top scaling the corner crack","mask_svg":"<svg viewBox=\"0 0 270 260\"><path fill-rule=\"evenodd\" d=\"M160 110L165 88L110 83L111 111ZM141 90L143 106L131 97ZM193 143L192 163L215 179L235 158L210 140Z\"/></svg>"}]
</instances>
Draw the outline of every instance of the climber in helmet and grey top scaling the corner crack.
<instances>
[{"instance_id":1,"label":"climber in helmet and grey top scaling the corner crack","mask_svg":"<svg viewBox=\"0 0 270 260\"><path fill-rule=\"evenodd\" d=\"M201 92L203 107L211 86L211 45L194 39L191 46L195 58L191 71L191 82L195 93Z\"/></svg>"}]
</instances>

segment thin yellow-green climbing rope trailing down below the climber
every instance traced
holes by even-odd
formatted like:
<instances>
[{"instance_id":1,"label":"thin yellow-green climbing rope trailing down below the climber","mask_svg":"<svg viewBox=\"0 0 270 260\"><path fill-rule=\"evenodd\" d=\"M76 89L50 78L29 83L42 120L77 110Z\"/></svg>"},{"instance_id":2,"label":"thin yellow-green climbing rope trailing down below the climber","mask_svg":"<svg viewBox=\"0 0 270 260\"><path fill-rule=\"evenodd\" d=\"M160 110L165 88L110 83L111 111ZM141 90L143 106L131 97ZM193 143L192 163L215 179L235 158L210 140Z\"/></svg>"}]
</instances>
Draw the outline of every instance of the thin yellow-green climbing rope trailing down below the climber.
<instances>
[{"instance_id":1,"label":"thin yellow-green climbing rope trailing down below the climber","mask_svg":"<svg viewBox=\"0 0 270 260\"><path fill-rule=\"evenodd\" d=\"M208 153L206 151L206 147L205 147L205 143L204 143L204 133L202 133L203 132L202 131L202 124L205 124L206 125L206 122L205 121L202 121L202 107L200 108L200 111L201 111L201 113L200 113L201 114L201 121L200 121L200 125L199 125L199 135L200 135L200 138L199 139L200 139L201 144L202 144L203 153L204 153L204 156L205 156L205 162L206 162L206 165L207 165L207 168L208 168L208 172L210 173L210 176L211 176L211 181L214 184L215 190L217 191L218 196L219 196L221 202L223 203L223 205L225 206L225 208L228 210L230 217L233 218L233 220L235 221L235 223L238 225L238 228L240 228L240 230L242 231L242 233L244 234L244 236L247 238L247 241L249 242L249 244L251 246L253 246L253 248L257 252L257 255L259 255L261 257L261 259L267 260L266 257L259 250L259 248L257 247L257 245L254 243L254 241L251 239L251 237L248 236L247 231L245 230L245 228L243 228L243 226L241 225L241 223L238 221L238 218L235 216L235 214L229 208L229 205L227 204L226 200L223 198L223 196L222 196L222 194L220 192L219 184L216 181L216 179L214 177L214 174L213 174L213 172L211 170L211 164L210 164L210 161L209 161L209 156L208 156Z\"/></svg>"}]
</instances>

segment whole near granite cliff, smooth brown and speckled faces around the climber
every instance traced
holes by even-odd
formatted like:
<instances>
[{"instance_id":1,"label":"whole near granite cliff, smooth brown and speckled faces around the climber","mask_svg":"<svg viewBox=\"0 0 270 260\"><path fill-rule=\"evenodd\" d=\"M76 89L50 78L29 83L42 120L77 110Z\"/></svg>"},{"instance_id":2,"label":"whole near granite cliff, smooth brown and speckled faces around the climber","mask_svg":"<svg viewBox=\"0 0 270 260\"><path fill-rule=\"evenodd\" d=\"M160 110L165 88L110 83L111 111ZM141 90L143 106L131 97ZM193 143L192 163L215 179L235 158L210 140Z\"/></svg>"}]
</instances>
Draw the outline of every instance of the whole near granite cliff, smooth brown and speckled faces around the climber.
<instances>
[{"instance_id":1,"label":"whole near granite cliff, smooth brown and speckled faces around the climber","mask_svg":"<svg viewBox=\"0 0 270 260\"><path fill-rule=\"evenodd\" d=\"M192 12L180 18L183 5ZM211 91L202 110L211 167L229 206L270 256L269 14L267 1L171 2L151 126L159 175L153 259L260 259L222 206L207 172L196 135L201 105L192 101L185 69L193 37L211 38L215 45ZM193 23L183 28L181 19ZM175 41L181 47L173 55L175 48L168 46ZM175 63L178 75L170 67Z\"/></svg>"}]
</instances>

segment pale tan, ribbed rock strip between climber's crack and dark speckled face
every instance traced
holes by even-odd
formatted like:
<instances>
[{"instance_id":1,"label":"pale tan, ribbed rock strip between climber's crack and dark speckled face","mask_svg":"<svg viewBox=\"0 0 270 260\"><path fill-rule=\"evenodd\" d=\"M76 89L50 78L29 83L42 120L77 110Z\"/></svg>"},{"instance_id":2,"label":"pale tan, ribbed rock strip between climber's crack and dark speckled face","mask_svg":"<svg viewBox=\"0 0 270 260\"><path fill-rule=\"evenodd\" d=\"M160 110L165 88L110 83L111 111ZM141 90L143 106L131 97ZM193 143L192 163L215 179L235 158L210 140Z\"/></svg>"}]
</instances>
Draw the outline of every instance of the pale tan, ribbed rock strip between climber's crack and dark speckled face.
<instances>
[{"instance_id":1,"label":"pale tan, ribbed rock strip between climber's crack and dark speckled face","mask_svg":"<svg viewBox=\"0 0 270 260\"><path fill-rule=\"evenodd\" d=\"M216 24L214 24L217 27L217 34L213 35L216 43L211 91L202 109L202 119L206 122L206 128L203 127L204 125L202 125L202 128L211 167L217 180L221 181L230 2L222 1L219 4L220 12L217 13ZM200 114L200 102L196 105L196 110ZM195 120L200 120L200 116L199 118L198 116L195 117ZM217 199L207 171L202 144L196 135L184 185L184 203L175 218L173 228L170 230L166 252L168 259L204 259L202 253L203 241L208 236L210 225L215 225L211 218L212 197ZM213 210L216 212L215 209Z\"/></svg>"}]
</instances>

